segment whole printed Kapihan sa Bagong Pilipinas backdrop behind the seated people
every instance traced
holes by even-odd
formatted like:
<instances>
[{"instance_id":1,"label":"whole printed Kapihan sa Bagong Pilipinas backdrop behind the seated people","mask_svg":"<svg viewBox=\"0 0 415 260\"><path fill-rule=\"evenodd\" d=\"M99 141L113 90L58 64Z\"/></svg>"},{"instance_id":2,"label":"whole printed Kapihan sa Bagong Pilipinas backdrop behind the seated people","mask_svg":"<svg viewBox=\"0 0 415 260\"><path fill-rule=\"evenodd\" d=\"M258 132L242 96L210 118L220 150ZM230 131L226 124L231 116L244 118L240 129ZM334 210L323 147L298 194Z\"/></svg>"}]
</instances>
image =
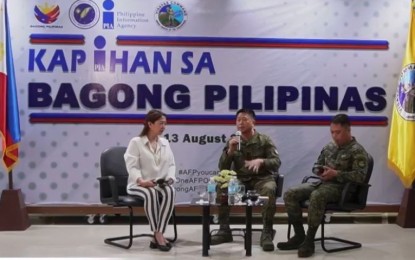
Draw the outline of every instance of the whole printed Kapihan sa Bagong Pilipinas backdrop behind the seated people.
<instances>
[{"instance_id":1,"label":"whole printed Kapihan sa Bagong Pilipinas backdrop behind the seated people","mask_svg":"<svg viewBox=\"0 0 415 260\"><path fill-rule=\"evenodd\" d=\"M241 107L301 182L337 113L373 155L369 201L397 204L389 120L409 0L8 1L20 107L14 186L29 204L99 202L99 157L168 115L177 203L218 172ZM0 170L0 188L7 187Z\"/></svg>"}]
</instances>

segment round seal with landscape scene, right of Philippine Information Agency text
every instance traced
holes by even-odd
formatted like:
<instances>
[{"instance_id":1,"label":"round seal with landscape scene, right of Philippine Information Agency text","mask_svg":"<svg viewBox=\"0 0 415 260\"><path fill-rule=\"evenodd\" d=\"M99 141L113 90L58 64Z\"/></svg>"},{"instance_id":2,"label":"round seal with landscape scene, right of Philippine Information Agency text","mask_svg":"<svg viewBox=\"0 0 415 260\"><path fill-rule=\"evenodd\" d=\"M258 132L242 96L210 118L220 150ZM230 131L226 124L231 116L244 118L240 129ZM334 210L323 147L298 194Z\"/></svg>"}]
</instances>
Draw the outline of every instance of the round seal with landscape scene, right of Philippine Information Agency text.
<instances>
[{"instance_id":1,"label":"round seal with landscape scene, right of Philippine Information Agency text","mask_svg":"<svg viewBox=\"0 0 415 260\"><path fill-rule=\"evenodd\" d=\"M157 8L155 19L163 29L177 30L186 22L187 13L181 4L169 1Z\"/></svg>"}]
</instances>

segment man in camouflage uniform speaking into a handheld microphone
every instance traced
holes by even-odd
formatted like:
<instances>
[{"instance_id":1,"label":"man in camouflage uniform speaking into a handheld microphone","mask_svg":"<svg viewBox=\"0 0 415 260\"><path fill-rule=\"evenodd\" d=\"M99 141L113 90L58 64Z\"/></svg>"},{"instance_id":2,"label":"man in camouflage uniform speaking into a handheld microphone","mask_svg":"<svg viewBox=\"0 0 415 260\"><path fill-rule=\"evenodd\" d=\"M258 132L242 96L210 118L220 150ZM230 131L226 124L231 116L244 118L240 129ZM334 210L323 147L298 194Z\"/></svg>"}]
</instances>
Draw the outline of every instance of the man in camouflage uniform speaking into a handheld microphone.
<instances>
[{"instance_id":1,"label":"man in camouflage uniform speaking into a handheld microphone","mask_svg":"<svg viewBox=\"0 0 415 260\"><path fill-rule=\"evenodd\" d=\"M223 149L219 160L220 170L233 169L237 178L246 190L256 190L261 196L269 200L262 207L262 222L264 225L260 244L264 251L273 251L272 224L276 211L276 183L273 174L276 174L281 161L271 139L254 129L255 112L251 109L240 109L236 113L236 126L241 132L240 144L238 137L233 136ZM238 145L240 150L238 150ZM218 189L218 198L221 190ZM219 206L218 233L211 238L211 245L232 242L232 233L229 227L230 208L227 205Z\"/></svg>"}]
</instances>

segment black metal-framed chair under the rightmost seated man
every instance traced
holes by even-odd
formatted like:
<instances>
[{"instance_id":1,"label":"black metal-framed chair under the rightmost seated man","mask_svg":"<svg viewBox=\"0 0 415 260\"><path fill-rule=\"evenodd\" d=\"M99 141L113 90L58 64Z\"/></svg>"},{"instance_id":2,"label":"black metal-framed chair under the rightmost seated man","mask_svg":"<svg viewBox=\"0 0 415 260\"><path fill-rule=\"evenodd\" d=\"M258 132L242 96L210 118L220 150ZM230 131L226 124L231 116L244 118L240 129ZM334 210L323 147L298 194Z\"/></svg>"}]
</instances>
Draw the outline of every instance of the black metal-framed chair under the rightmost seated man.
<instances>
[{"instance_id":1,"label":"black metal-framed chair under the rightmost seated man","mask_svg":"<svg viewBox=\"0 0 415 260\"><path fill-rule=\"evenodd\" d=\"M355 249L362 247L361 243L345 240L337 237L326 237L324 234L325 223L330 221L330 214L333 212L352 212L356 210L362 210L366 207L367 195L369 192L370 177L373 170L373 157L368 154L368 170L366 173L366 178L363 183L348 182L343 188L342 197L337 203L328 203L326 205L325 214L321 220L321 237L314 239L314 241L321 241L321 247L325 252L333 253L338 251L344 251L349 249ZM308 182L309 180L318 179L316 176L306 176L303 179L303 183ZM308 209L309 201L304 201L301 205L302 208ZM291 224L288 225L288 239L291 237ZM326 248L326 241L336 241L339 243L346 244L346 246L336 247L333 249ZM341 244L340 244L341 245Z\"/></svg>"}]
</instances>

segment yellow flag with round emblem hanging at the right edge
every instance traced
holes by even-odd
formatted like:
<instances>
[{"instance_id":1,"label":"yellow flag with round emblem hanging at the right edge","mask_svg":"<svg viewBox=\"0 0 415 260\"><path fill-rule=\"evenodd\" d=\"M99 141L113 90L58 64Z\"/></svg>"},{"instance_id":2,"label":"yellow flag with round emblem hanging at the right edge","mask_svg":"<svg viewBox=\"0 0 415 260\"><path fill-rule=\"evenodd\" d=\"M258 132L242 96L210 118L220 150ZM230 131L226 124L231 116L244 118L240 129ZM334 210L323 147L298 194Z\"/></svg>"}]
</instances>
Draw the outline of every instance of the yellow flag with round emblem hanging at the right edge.
<instances>
[{"instance_id":1,"label":"yellow flag with round emblem hanging at the right edge","mask_svg":"<svg viewBox=\"0 0 415 260\"><path fill-rule=\"evenodd\" d=\"M393 104L388 164L406 188L415 180L415 0L411 4L406 52Z\"/></svg>"}]
</instances>

